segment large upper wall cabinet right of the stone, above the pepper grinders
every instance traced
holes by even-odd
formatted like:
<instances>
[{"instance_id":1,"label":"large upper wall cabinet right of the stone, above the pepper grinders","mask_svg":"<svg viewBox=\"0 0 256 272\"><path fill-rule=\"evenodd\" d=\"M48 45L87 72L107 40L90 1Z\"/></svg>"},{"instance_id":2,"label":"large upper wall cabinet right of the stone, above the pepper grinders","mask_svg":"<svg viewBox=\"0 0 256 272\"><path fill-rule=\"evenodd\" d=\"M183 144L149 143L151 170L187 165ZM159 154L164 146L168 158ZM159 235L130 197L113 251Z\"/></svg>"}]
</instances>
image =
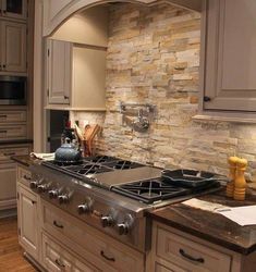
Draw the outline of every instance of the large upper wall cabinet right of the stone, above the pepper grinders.
<instances>
[{"instance_id":1,"label":"large upper wall cabinet right of the stone, above the pepper grinders","mask_svg":"<svg viewBox=\"0 0 256 272\"><path fill-rule=\"evenodd\" d=\"M203 110L256 111L255 14L255 0L206 0Z\"/></svg>"}]
</instances>

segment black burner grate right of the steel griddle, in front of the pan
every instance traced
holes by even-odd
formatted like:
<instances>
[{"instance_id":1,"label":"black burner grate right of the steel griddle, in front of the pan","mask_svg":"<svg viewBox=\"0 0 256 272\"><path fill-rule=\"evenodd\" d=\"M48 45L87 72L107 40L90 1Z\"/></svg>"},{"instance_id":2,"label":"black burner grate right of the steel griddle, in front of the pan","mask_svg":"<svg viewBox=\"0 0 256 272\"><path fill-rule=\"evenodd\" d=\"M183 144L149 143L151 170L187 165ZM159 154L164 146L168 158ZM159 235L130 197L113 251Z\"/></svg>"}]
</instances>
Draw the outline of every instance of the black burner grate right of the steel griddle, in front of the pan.
<instances>
[{"instance_id":1,"label":"black burner grate right of the steel griddle, in front of the pan","mask_svg":"<svg viewBox=\"0 0 256 272\"><path fill-rule=\"evenodd\" d=\"M145 203L153 203L158 200L184 196L191 193L191 189L170 185L160 177L118 185L113 186L111 189Z\"/></svg>"}]
</instances>

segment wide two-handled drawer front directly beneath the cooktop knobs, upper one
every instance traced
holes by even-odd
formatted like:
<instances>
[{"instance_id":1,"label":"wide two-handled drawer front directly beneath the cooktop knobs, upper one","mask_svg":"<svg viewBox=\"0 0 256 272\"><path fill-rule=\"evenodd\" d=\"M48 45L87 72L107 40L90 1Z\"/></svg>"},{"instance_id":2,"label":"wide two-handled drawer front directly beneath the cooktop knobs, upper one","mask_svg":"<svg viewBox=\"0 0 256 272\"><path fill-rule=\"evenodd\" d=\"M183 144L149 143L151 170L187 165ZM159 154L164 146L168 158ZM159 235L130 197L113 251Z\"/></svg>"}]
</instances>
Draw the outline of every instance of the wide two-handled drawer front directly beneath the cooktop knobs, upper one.
<instances>
[{"instance_id":1,"label":"wide two-handled drawer front directly beneath the cooktop knobs, upper one","mask_svg":"<svg viewBox=\"0 0 256 272\"><path fill-rule=\"evenodd\" d=\"M68 215L70 217L70 215ZM111 243L106 235L98 234L83 223L83 227L74 223L72 217L64 218L63 213L42 201L42 223L46 231L60 237L65 236L85 250L106 262L114 271L142 272L144 269L143 255L118 242ZM72 232L70 231L72 230Z\"/></svg>"}]
</instances>

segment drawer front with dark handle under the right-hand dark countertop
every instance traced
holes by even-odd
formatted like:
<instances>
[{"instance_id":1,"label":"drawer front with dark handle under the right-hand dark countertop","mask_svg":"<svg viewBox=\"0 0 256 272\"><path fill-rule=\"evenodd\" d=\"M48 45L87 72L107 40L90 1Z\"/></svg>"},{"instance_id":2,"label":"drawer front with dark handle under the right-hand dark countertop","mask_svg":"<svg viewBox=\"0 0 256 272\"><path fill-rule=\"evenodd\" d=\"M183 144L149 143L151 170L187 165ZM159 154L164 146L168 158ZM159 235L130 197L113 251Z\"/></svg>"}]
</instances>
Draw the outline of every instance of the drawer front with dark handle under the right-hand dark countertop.
<instances>
[{"instance_id":1,"label":"drawer front with dark handle under the right-hand dark countertop","mask_svg":"<svg viewBox=\"0 0 256 272\"><path fill-rule=\"evenodd\" d=\"M230 271L231 257L157 225L157 256L188 271Z\"/></svg>"}]
</instances>

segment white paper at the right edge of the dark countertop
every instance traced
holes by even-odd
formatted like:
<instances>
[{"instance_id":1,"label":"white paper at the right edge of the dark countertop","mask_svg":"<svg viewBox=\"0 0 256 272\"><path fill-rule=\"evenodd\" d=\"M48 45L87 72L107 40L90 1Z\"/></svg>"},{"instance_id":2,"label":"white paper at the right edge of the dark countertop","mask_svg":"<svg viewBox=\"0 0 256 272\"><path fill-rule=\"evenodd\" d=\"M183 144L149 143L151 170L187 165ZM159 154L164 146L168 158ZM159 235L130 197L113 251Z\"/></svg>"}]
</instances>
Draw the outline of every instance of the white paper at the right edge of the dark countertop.
<instances>
[{"instance_id":1,"label":"white paper at the right edge of the dark countertop","mask_svg":"<svg viewBox=\"0 0 256 272\"><path fill-rule=\"evenodd\" d=\"M256 205L235 208L229 207L227 209L218 209L217 212L242 226L256 225Z\"/></svg>"}]
</instances>

